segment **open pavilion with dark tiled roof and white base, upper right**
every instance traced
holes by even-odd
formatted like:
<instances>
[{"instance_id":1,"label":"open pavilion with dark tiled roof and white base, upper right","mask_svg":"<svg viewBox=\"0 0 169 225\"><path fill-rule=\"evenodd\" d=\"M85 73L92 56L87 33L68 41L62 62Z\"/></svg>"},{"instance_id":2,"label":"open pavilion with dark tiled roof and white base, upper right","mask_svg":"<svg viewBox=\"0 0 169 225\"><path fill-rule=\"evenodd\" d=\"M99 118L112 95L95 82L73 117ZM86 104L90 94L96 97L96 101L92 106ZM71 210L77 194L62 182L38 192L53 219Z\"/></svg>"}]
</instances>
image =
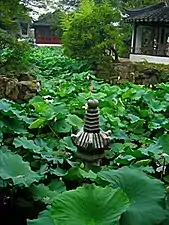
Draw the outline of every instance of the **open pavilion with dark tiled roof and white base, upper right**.
<instances>
[{"instance_id":1,"label":"open pavilion with dark tiled roof and white base, upper right","mask_svg":"<svg viewBox=\"0 0 169 225\"><path fill-rule=\"evenodd\" d=\"M126 14L133 24L130 60L169 64L169 0Z\"/></svg>"}]
</instances>

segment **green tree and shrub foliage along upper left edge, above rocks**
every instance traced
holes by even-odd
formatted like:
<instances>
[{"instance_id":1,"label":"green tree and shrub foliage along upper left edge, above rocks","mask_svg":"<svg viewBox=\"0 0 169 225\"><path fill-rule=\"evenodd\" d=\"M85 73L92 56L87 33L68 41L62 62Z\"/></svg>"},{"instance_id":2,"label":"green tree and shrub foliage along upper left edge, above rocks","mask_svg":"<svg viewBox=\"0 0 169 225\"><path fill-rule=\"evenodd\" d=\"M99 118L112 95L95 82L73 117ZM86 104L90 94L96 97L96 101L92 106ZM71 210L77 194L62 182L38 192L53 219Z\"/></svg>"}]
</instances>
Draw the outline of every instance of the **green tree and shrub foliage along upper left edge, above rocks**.
<instances>
[{"instance_id":1,"label":"green tree and shrub foliage along upper left edge, above rocks","mask_svg":"<svg viewBox=\"0 0 169 225\"><path fill-rule=\"evenodd\" d=\"M28 11L20 0L0 1L0 74L22 73L28 70L27 42L17 40L19 21L30 21Z\"/></svg>"}]
</instances>

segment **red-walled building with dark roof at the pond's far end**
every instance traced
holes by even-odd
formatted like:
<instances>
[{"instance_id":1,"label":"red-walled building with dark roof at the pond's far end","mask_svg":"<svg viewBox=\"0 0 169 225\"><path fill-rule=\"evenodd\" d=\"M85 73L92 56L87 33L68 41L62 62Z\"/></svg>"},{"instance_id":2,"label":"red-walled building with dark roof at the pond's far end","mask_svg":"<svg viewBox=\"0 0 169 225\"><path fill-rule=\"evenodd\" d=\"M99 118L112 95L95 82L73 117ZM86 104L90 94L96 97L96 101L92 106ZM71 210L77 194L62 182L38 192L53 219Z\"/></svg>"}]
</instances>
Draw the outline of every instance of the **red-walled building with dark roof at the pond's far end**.
<instances>
[{"instance_id":1,"label":"red-walled building with dark roof at the pond's far end","mask_svg":"<svg viewBox=\"0 0 169 225\"><path fill-rule=\"evenodd\" d=\"M60 37L52 29L48 18L35 21L32 27L35 29L36 44L61 44Z\"/></svg>"}]
</instances>

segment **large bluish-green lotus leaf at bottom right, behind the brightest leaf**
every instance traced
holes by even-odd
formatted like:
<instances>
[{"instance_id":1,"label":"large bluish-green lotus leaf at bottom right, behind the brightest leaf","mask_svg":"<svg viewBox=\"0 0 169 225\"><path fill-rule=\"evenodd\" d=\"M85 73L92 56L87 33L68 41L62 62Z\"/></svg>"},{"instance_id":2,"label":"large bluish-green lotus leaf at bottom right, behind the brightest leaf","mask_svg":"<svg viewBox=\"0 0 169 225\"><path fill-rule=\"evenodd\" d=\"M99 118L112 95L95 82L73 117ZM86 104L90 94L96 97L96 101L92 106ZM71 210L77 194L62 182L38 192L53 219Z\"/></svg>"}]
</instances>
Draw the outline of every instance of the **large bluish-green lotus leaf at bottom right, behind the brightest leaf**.
<instances>
[{"instance_id":1,"label":"large bluish-green lotus leaf at bottom right, behind the brightest leaf","mask_svg":"<svg viewBox=\"0 0 169 225\"><path fill-rule=\"evenodd\" d=\"M159 180L129 167L102 171L98 176L113 188L120 187L130 199L131 205L123 214L121 225L155 225L165 218L162 207L165 188Z\"/></svg>"}]
</instances>

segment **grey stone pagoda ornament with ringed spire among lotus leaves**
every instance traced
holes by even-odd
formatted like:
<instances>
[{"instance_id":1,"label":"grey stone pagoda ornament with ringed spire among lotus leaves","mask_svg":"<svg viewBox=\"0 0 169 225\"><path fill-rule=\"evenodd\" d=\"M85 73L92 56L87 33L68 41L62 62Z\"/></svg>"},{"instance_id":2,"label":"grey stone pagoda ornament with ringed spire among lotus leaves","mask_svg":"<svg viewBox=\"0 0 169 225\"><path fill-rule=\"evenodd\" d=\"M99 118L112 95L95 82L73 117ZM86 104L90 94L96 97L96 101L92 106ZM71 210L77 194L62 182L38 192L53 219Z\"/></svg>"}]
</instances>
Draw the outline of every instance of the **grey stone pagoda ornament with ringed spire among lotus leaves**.
<instances>
[{"instance_id":1,"label":"grey stone pagoda ornament with ringed spire among lotus leaves","mask_svg":"<svg viewBox=\"0 0 169 225\"><path fill-rule=\"evenodd\" d=\"M77 147L76 155L84 162L99 162L108 150L111 131L104 132L100 129L100 115L98 101L88 100L84 126L72 134L72 141Z\"/></svg>"}]
</instances>

